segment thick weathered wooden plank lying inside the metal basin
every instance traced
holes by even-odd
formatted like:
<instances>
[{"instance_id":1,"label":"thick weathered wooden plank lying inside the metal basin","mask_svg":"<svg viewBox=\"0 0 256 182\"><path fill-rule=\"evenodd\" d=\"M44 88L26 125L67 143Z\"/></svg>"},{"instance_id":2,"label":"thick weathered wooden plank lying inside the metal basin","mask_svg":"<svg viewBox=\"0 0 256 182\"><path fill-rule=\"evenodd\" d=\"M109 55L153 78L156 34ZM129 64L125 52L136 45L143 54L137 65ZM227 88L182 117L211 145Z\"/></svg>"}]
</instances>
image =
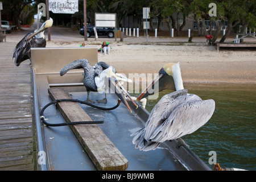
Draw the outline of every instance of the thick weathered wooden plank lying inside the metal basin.
<instances>
[{"instance_id":1,"label":"thick weathered wooden plank lying inside the metal basin","mask_svg":"<svg viewBox=\"0 0 256 182\"><path fill-rule=\"evenodd\" d=\"M48 89L52 100L72 98L64 89ZM76 102L59 102L58 108L67 122L92 121ZM126 170L128 160L121 154L103 131L94 124L71 126L76 137L101 171Z\"/></svg>"}]
</instances>

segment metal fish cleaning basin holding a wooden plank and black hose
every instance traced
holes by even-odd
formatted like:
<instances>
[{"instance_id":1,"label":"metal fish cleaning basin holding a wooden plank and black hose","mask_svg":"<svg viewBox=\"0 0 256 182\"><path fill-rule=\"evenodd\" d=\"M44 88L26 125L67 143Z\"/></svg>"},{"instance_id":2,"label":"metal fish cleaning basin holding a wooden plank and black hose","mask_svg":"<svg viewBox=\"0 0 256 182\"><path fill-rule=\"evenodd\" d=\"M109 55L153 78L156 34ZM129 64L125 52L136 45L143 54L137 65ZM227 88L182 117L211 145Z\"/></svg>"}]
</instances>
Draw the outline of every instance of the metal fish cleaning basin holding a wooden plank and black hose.
<instances>
[{"instance_id":1,"label":"metal fish cleaning basin holding a wooden plank and black hose","mask_svg":"<svg viewBox=\"0 0 256 182\"><path fill-rule=\"evenodd\" d=\"M113 110L97 109L70 99L86 101L84 70L73 69L64 76L60 70L71 60L86 57L90 65L98 63L97 47L31 48L32 107L34 110L37 152L42 152L39 170L211 170L187 146L167 140L156 150L140 151L130 135L144 127L150 113L139 102L127 101ZM90 100L99 107L117 105L118 96L107 93L107 102L97 103L104 93L90 92ZM84 125L47 126L47 123L93 122ZM101 122L102 121L102 122ZM97 123L101 122L101 123Z\"/></svg>"}]
</instances>

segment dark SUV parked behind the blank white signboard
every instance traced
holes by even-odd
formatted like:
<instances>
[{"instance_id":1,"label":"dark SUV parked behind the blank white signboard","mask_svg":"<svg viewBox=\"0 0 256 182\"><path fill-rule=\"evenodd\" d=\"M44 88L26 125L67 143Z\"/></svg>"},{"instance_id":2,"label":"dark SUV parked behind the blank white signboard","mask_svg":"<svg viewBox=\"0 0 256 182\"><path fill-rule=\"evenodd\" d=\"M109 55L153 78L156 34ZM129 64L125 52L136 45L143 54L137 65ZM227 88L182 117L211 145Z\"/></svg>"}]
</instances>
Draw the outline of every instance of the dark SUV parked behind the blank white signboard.
<instances>
[{"instance_id":1,"label":"dark SUV parked behind the blank white signboard","mask_svg":"<svg viewBox=\"0 0 256 182\"><path fill-rule=\"evenodd\" d=\"M92 35L95 35L94 34L94 30L93 30L94 26L92 25L87 25L87 37L89 38L90 36ZM106 35L108 36L109 38L113 38L114 37L114 28L102 28L102 27L97 27L97 35ZM80 34L81 35L84 35L84 27L82 27L80 29Z\"/></svg>"}]
</instances>

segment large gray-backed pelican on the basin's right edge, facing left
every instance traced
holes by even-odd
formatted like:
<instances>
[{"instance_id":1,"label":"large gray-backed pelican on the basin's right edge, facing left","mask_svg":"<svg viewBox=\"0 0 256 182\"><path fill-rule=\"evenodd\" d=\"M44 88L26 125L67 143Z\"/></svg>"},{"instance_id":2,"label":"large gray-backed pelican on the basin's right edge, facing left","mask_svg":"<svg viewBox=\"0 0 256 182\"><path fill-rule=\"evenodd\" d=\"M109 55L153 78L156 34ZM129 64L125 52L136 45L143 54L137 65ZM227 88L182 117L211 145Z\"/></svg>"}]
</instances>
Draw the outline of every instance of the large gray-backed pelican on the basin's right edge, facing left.
<instances>
[{"instance_id":1,"label":"large gray-backed pelican on the basin's right edge, facing left","mask_svg":"<svg viewBox=\"0 0 256 182\"><path fill-rule=\"evenodd\" d=\"M215 102L201 100L195 94L188 94L183 88L180 65L166 64L137 100L154 94L154 85L163 89L177 90L163 96L152 109L146 125L136 133L133 143L143 151L155 150L160 143L191 134L212 117ZM158 88L155 88L157 90ZM158 92L156 91L156 92ZM182 141L182 140L181 140Z\"/></svg>"}]
</instances>

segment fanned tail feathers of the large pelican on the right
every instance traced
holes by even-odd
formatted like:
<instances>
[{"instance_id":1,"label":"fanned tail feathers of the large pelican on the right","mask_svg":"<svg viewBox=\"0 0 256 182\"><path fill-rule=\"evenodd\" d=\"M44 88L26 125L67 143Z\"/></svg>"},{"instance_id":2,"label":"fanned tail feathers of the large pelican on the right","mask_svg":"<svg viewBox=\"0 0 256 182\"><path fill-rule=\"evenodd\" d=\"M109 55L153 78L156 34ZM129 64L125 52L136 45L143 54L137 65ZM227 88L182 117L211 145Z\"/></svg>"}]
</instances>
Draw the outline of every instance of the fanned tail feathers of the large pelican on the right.
<instances>
[{"instance_id":1,"label":"fanned tail feathers of the large pelican on the right","mask_svg":"<svg viewBox=\"0 0 256 182\"><path fill-rule=\"evenodd\" d=\"M141 130L136 131L134 134L131 134L131 136L134 136L133 138L133 144L135 144L135 148L139 148L139 150L142 151L150 151L155 150L160 143L147 141L144 139L144 128Z\"/></svg>"}]
</instances>

